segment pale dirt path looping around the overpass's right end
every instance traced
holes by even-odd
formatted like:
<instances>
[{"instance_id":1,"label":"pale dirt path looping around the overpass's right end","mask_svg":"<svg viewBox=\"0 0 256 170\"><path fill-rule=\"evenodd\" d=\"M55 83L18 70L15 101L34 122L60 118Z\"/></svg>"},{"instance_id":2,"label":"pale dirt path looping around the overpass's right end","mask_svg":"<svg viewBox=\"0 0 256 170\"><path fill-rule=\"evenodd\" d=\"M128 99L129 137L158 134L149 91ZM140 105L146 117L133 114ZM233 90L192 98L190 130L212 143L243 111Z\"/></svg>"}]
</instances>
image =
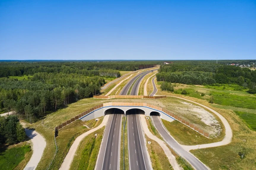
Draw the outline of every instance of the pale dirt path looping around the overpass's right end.
<instances>
[{"instance_id":1,"label":"pale dirt path looping around the overpass's right end","mask_svg":"<svg viewBox=\"0 0 256 170\"><path fill-rule=\"evenodd\" d=\"M223 125L225 127L225 137L220 142L214 142L214 143L208 143L208 144L202 144L202 145L192 145L192 146L181 145L182 148L184 148L185 150L189 151L189 150L193 150L193 149L211 148L211 147L227 145L227 144L229 144L231 142L232 136L233 136L232 129L231 129L228 121L221 114L219 114L217 111L215 111L215 110L213 110L213 109L211 109L211 108L209 108L207 106L204 106L204 105L202 105L200 103L197 103L195 101L191 101L191 100L188 100L188 99L185 99L185 98L181 98L181 97L177 97L177 96L171 96L171 95L168 95L168 96L179 98L179 99L182 99L182 100L186 100L186 101L198 104L199 106L202 106L202 107L212 111L214 114L216 114L220 118L221 122L223 123Z\"/></svg>"}]
</instances>

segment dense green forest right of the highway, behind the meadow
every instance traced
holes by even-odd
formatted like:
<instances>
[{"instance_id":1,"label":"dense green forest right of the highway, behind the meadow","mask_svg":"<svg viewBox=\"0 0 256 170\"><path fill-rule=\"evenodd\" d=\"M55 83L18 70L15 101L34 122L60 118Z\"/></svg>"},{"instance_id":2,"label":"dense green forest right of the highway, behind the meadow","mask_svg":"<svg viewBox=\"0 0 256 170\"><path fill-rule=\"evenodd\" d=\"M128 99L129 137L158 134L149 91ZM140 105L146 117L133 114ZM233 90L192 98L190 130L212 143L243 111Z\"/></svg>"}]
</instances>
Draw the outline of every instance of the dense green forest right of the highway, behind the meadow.
<instances>
[{"instance_id":1,"label":"dense green forest right of the highway, behind the meadow","mask_svg":"<svg viewBox=\"0 0 256 170\"><path fill-rule=\"evenodd\" d=\"M182 84L238 84L256 93L256 70L210 62L183 61L162 65L157 81Z\"/></svg>"}]
</instances>

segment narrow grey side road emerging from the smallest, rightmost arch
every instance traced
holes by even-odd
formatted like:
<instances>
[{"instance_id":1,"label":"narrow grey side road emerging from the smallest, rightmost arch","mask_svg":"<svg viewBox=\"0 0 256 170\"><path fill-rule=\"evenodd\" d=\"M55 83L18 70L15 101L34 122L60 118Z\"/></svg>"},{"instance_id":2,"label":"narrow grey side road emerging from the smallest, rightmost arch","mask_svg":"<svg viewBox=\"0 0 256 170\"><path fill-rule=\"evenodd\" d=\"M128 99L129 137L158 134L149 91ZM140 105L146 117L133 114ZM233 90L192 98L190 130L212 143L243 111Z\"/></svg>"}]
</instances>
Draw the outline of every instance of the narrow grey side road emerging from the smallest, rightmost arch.
<instances>
[{"instance_id":1,"label":"narrow grey side road emerging from the smallest, rightmost arch","mask_svg":"<svg viewBox=\"0 0 256 170\"><path fill-rule=\"evenodd\" d=\"M198 161L193 155L184 150L169 134L166 132L166 129L163 127L162 122L159 116L152 115L153 122L155 124L156 129L162 135L162 137L166 140L167 144L173 148L180 156L185 158L192 166L197 170L208 170L207 167Z\"/></svg>"}]
</instances>

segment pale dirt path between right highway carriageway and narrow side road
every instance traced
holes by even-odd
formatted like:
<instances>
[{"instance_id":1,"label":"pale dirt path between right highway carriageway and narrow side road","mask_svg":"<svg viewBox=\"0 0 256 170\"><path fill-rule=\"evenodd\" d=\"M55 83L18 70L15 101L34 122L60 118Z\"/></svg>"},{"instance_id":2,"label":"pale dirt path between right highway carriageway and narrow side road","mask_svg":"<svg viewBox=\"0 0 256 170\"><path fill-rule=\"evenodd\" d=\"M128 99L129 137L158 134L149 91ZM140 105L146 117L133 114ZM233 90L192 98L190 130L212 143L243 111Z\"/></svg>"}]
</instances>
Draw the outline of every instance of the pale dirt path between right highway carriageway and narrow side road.
<instances>
[{"instance_id":1,"label":"pale dirt path between right highway carriageway and narrow side road","mask_svg":"<svg viewBox=\"0 0 256 170\"><path fill-rule=\"evenodd\" d=\"M143 127L144 133L152 140L155 140L163 149L166 157L168 158L171 166L173 167L174 170L180 170L182 169L179 164L176 161L175 156L171 153L170 149L167 147L167 145L164 143L163 140L160 140L158 137L156 137L155 135L153 135L150 130L148 129L147 126L147 122L145 120L145 116L144 115L140 115L141 117L141 125Z\"/></svg>"}]
</instances>

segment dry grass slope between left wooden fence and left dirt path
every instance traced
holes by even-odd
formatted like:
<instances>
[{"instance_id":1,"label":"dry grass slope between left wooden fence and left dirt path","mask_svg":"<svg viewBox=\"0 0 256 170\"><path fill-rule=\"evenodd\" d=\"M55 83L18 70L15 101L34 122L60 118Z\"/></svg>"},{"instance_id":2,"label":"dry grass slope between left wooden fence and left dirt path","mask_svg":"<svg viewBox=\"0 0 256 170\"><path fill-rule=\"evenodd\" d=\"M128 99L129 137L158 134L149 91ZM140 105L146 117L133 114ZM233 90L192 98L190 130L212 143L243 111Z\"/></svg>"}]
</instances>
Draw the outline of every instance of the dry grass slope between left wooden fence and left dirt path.
<instances>
[{"instance_id":1,"label":"dry grass slope between left wooden fence and left dirt path","mask_svg":"<svg viewBox=\"0 0 256 170\"><path fill-rule=\"evenodd\" d=\"M58 136L56 137L58 152L50 169L59 169L74 140L82 133L90 130L84 125L93 126L94 128L101 124L101 122L102 119L99 119L98 122L96 122L94 119L85 122L77 120L74 123L60 129L58 131Z\"/></svg>"}]
</instances>

